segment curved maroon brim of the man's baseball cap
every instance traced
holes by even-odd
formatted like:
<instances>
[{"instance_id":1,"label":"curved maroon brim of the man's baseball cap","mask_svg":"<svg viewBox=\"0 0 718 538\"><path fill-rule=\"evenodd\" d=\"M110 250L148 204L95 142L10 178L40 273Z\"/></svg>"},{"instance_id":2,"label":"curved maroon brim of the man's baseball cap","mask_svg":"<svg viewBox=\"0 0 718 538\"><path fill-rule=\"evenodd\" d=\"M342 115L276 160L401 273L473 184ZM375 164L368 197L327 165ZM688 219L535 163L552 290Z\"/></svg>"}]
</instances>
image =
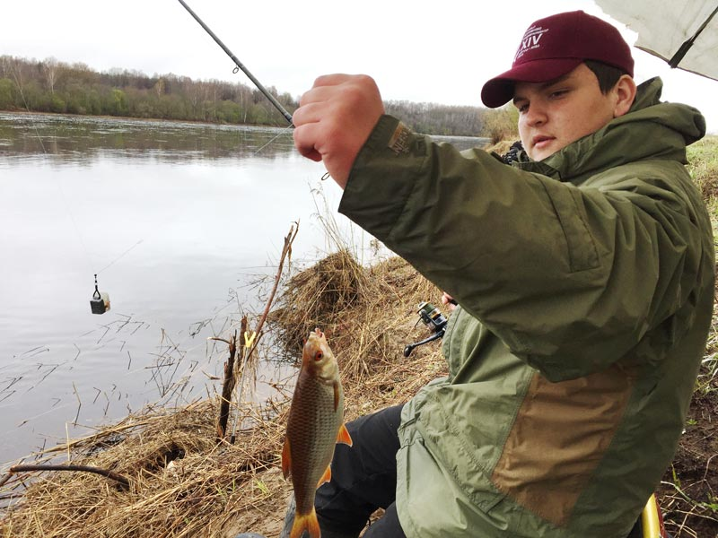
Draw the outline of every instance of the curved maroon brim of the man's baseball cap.
<instances>
[{"instance_id":1,"label":"curved maroon brim of the man's baseball cap","mask_svg":"<svg viewBox=\"0 0 718 538\"><path fill-rule=\"evenodd\" d=\"M573 71L582 61L582 58L547 58L517 65L486 82L481 100L488 108L501 107L513 99L516 82L552 81Z\"/></svg>"}]
</instances>

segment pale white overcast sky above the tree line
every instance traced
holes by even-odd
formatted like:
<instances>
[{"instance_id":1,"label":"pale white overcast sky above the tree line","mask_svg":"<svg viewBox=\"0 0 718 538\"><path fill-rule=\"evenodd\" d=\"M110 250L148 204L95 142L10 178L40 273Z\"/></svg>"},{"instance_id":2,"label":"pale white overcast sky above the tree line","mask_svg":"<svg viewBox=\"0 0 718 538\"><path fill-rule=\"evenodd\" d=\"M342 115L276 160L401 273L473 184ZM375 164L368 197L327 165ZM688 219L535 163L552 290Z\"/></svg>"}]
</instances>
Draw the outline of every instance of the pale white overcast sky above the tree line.
<instances>
[{"instance_id":1,"label":"pale white overcast sky above the tree line","mask_svg":"<svg viewBox=\"0 0 718 538\"><path fill-rule=\"evenodd\" d=\"M481 105L530 22L562 11L603 17L635 42L592 0L186 1L259 81L295 97L319 74L365 73L385 100ZM251 84L177 0L23 0L4 2L2 18L0 54ZM718 133L718 82L634 56L637 82L660 75L663 100L699 108Z\"/></svg>"}]
</instances>

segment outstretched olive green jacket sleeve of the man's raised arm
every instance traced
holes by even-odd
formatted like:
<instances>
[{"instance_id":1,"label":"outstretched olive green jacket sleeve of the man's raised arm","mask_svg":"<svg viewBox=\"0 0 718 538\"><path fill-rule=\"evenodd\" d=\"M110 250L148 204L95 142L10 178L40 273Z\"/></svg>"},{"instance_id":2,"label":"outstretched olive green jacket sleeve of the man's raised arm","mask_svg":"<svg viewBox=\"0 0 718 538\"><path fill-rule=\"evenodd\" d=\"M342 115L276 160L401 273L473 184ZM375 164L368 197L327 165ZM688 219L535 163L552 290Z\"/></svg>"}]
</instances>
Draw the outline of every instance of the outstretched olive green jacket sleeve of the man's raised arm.
<instances>
[{"instance_id":1,"label":"outstretched olive green jacket sleeve of the man's raised arm","mask_svg":"<svg viewBox=\"0 0 718 538\"><path fill-rule=\"evenodd\" d=\"M665 163L669 176L686 175ZM605 369L647 334L652 343L679 337L670 319L695 299L705 222L686 187L639 178L641 169L575 187L480 150L457 152L385 116L339 211L561 380Z\"/></svg>"}]
</instances>

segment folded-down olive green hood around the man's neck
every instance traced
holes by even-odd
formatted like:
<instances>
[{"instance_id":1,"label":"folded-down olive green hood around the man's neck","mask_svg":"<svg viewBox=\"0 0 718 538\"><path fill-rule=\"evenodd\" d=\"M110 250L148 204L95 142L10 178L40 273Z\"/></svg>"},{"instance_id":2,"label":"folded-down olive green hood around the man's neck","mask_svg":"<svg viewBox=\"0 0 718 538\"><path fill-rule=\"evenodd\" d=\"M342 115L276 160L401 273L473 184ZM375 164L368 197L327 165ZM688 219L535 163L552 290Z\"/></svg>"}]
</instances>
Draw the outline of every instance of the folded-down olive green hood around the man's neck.
<instances>
[{"instance_id":1,"label":"folded-down olive green hood around the man's neck","mask_svg":"<svg viewBox=\"0 0 718 538\"><path fill-rule=\"evenodd\" d=\"M686 163L686 146L705 135L705 118L693 107L661 102L663 82L638 86L631 109L544 161L521 162L521 169L563 181L580 182L596 170L645 159ZM579 173L577 170L581 170Z\"/></svg>"}]
</instances>

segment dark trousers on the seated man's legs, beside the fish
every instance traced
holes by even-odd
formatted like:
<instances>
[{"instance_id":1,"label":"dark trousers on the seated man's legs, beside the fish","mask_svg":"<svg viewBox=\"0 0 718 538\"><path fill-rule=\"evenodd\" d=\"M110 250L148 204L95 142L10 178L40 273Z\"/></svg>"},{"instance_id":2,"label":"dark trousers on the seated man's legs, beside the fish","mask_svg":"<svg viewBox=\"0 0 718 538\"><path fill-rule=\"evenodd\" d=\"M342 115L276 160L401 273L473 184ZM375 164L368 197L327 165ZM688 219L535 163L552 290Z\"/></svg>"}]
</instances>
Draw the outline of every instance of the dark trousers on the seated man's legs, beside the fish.
<instances>
[{"instance_id":1,"label":"dark trousers on the seated man's legs, beside the fish","mask_svg":"<svg viewBox=\"0 0 718 538\"><path fill-rule=\"evenodd\" d=\"M397 516L398 426L403 405L348 422L354 445L337 444L331 481L317 490L314 503L322 531L358 536L377 508L385 514L364 538L406 538Z\"/></svg>"}]
</instances>

